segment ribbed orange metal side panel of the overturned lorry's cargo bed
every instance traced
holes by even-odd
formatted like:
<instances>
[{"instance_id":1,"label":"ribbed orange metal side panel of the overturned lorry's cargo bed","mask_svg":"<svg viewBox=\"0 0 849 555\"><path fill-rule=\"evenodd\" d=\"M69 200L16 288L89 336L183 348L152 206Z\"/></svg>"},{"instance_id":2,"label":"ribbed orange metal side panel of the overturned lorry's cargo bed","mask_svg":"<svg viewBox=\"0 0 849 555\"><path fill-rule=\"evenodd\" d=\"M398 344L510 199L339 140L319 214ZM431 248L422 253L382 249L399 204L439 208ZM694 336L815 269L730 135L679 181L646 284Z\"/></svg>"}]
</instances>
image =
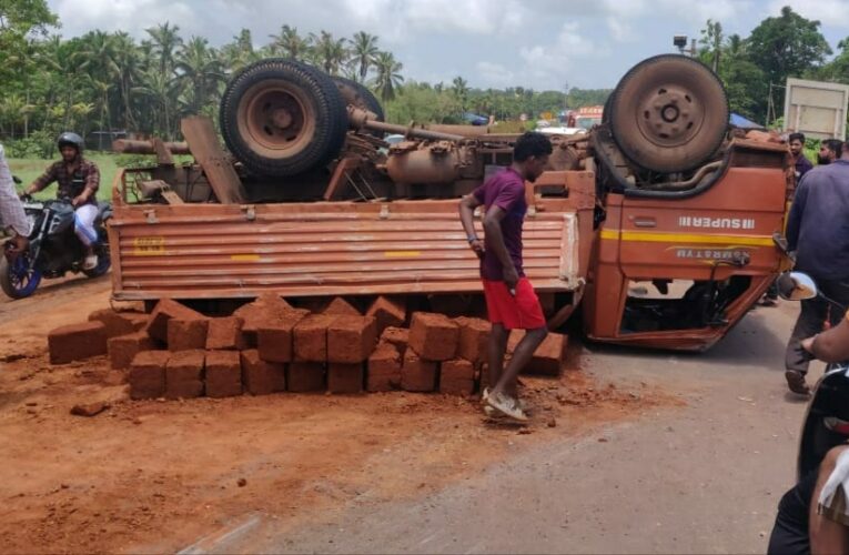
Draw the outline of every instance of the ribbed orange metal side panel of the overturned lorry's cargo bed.
<instances>
[{"instance_id":1,"label":"ribbed orange metal side panel of the overturned lorry's cargo bed","mask_svg":"<svg viewBox=\"0 0 849 555\"><path fill-rule=\"evenodd\" d=\"M219 205L220 206L220 205ZM110 225L119 300L481 292L456 203L452 210L309 212L233 206L120 210ZM194 206L188 206L192 209ZM247 214L247 215L245 215ZM483 230L478 230L483 234ZM537 291L577 286L575 214L524 225L525 272Z\"/></svg>"}]
</instances>

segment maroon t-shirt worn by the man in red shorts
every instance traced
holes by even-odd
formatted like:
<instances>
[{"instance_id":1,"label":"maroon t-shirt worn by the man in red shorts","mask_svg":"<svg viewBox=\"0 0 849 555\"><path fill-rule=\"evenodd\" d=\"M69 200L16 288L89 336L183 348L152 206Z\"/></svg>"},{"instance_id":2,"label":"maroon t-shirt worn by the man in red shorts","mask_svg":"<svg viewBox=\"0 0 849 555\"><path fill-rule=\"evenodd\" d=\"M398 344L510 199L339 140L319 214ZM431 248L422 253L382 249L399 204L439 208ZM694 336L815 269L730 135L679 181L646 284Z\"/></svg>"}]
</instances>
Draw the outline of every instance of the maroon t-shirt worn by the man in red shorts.
<instances>
[{"instance_id":1,"label":"maroon t-shirt worn by the man in red shorts","mask_svg":"<svg viewBox=\"0 0 849 555\"><path fill-rule=\"evenodd\" d=\"M475 199L488 211L498 206L506 212L502 220L504 245L516 266L519 276L525 273L522 269L522 222L527 212L525 202L525 180L513 168L507 168L489 178L486 183L475 189ZM502 263L493 249L487 245L481 260L481 278L492 281L504 281Z\"/></svg>"}]
</instances>

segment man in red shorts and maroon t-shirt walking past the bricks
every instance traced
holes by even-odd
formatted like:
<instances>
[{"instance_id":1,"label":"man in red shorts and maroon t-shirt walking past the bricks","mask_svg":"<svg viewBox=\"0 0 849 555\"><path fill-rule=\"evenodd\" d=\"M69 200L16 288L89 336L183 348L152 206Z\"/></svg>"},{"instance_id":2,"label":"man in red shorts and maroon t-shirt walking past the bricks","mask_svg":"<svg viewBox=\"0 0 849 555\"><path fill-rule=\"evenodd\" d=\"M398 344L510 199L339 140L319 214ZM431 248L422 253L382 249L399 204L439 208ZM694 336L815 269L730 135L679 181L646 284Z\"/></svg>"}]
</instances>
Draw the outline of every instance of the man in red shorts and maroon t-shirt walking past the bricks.
<instances>
[{"instance_id":1,"label":"man in red shorts and maroon t-shirt walking past the bricks","mask_svg":"<svg viewBox=\"0 0 849 555\"><path fill-rule=\"evenodd\" d=\"M527 416L519 406L516 377L530 361L548 330L539 300L522 269L522 222L527 211L525 181L534 182L548 165L550 141L542 133L525 133L513 149L513 164L493 175L459 201L459 220L468 244L481 259L489 335L489 384L484 402L517 421ZM474 211L483 205L485 240L475 233ZM526 330L507 367L504 353L511 330Z\"/></svg>"}]
</instances>

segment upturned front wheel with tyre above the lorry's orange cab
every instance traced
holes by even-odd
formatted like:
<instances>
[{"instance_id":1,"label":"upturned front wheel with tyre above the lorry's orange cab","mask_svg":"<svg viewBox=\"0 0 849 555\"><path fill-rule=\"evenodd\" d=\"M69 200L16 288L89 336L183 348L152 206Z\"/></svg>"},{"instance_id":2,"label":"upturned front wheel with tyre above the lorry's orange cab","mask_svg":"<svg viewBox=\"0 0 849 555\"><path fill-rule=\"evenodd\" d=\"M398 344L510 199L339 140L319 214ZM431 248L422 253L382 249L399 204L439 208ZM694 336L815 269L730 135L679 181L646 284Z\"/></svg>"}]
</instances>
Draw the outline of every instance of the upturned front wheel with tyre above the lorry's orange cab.
<instances>
[{"instance_id":1,"label":"upturned front wheel with tyre above the lorry's orange cab","mask_svg":"<svg viewBox=\"0 0 849 555\"><path fill-rule=\"evenodd\" d=\"M701 62L676 54L631 68L616 85L609 112L614 140L625 155L661 173L699 167L728 129L722 83Z\"/></svg>"}]
</instances>

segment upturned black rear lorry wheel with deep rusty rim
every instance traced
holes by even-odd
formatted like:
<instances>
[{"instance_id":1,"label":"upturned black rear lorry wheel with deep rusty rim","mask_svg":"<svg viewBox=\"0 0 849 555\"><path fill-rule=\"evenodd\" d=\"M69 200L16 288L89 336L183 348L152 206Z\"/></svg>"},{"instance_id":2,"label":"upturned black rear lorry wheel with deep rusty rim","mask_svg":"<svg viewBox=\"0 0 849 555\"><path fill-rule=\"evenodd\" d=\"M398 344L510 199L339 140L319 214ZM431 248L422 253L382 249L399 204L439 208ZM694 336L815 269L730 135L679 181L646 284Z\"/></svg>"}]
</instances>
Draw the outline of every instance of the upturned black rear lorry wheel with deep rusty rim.
<instances>
[{"instance_id":1,"label":"upturned black rear lorry wheel with deep rusty rim","mask_svg":"<svg viewBox=\"0 0 849 555\"><path fill-rule=\"evenodd\" d=\"M230 151L260 175L294 175L330 162L347 130L335 83L284 59L255 62L230 81L220 120Z\"/></svg>"}]
</instances>

